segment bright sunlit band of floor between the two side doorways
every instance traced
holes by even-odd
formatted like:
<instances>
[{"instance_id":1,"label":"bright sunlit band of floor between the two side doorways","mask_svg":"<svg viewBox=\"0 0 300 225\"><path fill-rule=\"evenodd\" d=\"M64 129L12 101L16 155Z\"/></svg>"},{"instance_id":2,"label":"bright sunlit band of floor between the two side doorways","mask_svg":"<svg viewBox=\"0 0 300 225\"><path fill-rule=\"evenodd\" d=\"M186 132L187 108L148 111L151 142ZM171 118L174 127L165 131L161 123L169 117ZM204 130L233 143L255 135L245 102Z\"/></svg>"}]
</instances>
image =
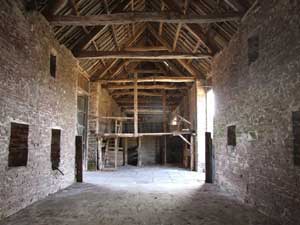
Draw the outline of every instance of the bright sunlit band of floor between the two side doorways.
<instances>
[{"instance_id":1,"label":"bright sunlit band of floor between the two side doorways","mask_svg":"<svg viewBox=\"0 0 300 225\"><path fill-rule=\"evenodd\" d=\"M121 167L117 171L85 172L84 182L111 189L134 191L180 191L197 189L204 174L172 167Z\"/></svg>"}]
</instances>

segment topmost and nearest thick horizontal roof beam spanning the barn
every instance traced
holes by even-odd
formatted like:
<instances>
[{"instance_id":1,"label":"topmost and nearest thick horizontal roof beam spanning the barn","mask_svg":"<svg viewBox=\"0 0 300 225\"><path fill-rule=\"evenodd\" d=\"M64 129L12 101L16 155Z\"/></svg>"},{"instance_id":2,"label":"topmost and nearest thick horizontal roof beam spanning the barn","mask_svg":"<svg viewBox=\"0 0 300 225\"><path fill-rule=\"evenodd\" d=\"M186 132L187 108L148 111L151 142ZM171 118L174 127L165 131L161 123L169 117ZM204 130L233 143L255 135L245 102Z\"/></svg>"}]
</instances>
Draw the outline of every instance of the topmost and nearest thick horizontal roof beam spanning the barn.
<instances>
[{"instance_id":1,"label":"topmost and nearest thick horizontal roof beam spanning the barn","mask_svg":"<svg viewBox=\"0 0 300 225\"><path fill-rule=\"evenodd\" d=\"M93 16L52 16L49 18L49 21L53 26L99 26L142 22L206 24L239 19L241 19L241 15L238 13L183 15L182 13L174 12L126 12Z\"/></svg>"}]
</instances>

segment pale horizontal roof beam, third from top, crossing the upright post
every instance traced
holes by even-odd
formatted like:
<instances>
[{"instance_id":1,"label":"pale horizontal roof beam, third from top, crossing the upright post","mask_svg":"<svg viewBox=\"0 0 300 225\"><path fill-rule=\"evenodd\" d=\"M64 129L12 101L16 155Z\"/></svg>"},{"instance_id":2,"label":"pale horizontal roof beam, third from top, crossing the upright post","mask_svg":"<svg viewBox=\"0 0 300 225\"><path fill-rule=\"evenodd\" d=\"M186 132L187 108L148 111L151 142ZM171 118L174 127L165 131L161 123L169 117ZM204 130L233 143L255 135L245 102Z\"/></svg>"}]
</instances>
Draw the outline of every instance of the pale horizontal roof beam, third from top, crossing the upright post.
<instances>
[{"instance_id":1,"label":"pale horizontal roof beam, third from top, crossing the upright post","mask_svg":"<svg viewBox=\"0 0 300 225\"><path fill-rule=\"evenodd\" d=\"M119 79L119 80L101 80L102 84L106 83L133 83L134 79ZM146 77L137 79L138 83L153 83L153 82L165 82L165 83L192 83L195 82L194 77L186 76L158 76L158 77Z\"/></svg>"}]
</instances>

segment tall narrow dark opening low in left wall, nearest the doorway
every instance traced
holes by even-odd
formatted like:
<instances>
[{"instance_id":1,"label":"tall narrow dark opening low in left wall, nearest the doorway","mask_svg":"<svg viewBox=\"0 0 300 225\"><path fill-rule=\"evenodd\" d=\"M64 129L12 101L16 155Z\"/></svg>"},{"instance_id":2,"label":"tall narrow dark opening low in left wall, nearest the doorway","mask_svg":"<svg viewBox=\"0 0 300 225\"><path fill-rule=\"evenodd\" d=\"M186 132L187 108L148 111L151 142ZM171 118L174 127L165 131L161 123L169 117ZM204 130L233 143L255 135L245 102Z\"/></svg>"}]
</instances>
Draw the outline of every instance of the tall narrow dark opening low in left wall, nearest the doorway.
<instances>
[{"instance_id":1,"label":"tall narrow dark opening low in left wall, nearest the doorway","mask_svg":"<svg viewBox=\"0 0 300 225\"><path fill-rule=\"evenodd\" d=\"M51 164L52 169L59 168L60 163L60 136L61 132L58 129L52 129L51 135Z\"/></svg>"}]
</instances>

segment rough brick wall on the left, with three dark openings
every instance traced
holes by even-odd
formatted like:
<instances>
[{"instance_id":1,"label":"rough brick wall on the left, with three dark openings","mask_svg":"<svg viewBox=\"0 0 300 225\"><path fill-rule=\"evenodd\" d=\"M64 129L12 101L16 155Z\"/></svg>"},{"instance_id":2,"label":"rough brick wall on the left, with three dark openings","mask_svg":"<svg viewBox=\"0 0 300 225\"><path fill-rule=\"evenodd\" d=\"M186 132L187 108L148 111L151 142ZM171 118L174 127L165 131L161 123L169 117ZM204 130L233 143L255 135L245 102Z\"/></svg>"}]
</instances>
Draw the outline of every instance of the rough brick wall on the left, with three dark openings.
<instances>
[{"instance_id":1,"label":"rough brick wall on the left, with three dark openings","mask_svg":"<svg viewBox=\"0 0 300 225\"><path fill-rule=\"evenodd\" d=\"M74 182L78 63L46 20L15 1L0 5L0 218ZM50 53L57 57L50 76ZM8 167L11 122L29 125L27 166ZM61 130L60 170L52 170L51 129Z\"/></svg>"}]
</instances>

